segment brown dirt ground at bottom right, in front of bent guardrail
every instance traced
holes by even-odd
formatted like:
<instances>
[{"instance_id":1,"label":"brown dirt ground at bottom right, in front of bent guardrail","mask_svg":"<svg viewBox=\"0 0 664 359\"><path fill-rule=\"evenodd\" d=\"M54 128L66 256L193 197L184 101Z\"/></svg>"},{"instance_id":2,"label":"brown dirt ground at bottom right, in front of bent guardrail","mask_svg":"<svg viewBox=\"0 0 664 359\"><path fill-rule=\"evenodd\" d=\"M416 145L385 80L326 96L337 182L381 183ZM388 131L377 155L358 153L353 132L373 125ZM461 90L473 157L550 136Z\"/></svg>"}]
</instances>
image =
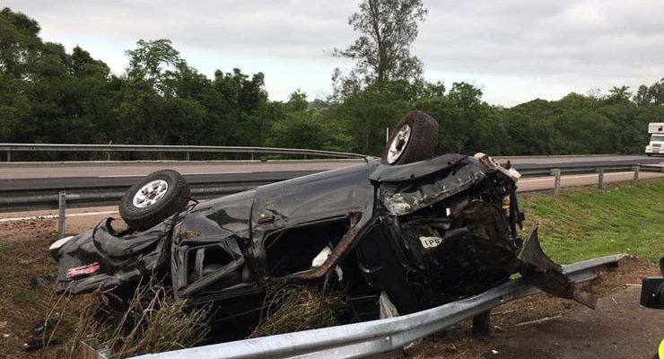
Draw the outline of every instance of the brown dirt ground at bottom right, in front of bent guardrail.
<instances>
[{"instance_id":1,"label":"brown dirt ground at bottom right, in front of bent guardrail","mask_svg":"<svg viewBox=\"0 0 664 359\"><path fill-rule=\"evenodd\" d=\"M417 359L651 358L664 339L664 311L639 305L643 276L659 268L625 258L581 288L598 295L590 310L576 302L537 294L495 308L489 337L475 337L464 321L410 347Z\"/></svg>"}]
</instances>

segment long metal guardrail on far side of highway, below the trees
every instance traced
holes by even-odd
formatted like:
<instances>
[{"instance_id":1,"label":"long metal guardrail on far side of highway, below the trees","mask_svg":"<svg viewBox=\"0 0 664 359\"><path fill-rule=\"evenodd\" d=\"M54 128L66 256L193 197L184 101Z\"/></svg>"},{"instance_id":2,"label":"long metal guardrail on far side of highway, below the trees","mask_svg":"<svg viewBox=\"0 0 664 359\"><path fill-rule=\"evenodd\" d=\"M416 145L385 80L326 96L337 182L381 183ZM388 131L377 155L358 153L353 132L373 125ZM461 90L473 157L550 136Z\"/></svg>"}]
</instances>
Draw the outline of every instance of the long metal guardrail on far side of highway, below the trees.
<instances>
[{"instance_id":1,"label":"long metal guardrail on far side of highway, below the trees","mask_svg":"<svg viewBox=\"0 0 664 359\"><path fill-rule=\"evenodd\" d=\"M189 161L190 153L249 153L254 159L256 153L298 154L305 156L364 158L365 154L335 151L308 150L302 148L240 147L205 145L162 145L162 144L0 144L0 152L7 154L7 162L12 161L13 152L103 152L107 161L114 152L168 152L185 153Z\"/></svg>"}]
</instances>

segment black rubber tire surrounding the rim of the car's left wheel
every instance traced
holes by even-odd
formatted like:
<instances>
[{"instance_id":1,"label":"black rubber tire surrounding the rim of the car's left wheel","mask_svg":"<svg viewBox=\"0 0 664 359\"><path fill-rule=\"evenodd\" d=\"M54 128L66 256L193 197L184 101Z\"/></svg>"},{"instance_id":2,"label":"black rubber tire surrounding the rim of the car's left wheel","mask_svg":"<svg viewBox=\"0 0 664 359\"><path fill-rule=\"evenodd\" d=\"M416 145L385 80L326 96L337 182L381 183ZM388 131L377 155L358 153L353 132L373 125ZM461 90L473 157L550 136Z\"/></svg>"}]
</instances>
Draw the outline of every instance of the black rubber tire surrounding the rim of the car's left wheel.
<instances>
[{"instance_id":1,"label":"black rubber tire surrounding the rim of the car's left wheel","mask_svg":"<svg viewBox=\"0 0 664 359\"><path fill-rule=\"evenodd\" d=\"M134 197L141 188L155 181L168 184L166 193L152 205L135 206ZM119 212L127 225L136 231L145 231L161 223L164 219L181 211L189 202L189 185L178 171L162 170L150 173L143 180L129 188L120 200Z\"/></svg>"}]
</instances>

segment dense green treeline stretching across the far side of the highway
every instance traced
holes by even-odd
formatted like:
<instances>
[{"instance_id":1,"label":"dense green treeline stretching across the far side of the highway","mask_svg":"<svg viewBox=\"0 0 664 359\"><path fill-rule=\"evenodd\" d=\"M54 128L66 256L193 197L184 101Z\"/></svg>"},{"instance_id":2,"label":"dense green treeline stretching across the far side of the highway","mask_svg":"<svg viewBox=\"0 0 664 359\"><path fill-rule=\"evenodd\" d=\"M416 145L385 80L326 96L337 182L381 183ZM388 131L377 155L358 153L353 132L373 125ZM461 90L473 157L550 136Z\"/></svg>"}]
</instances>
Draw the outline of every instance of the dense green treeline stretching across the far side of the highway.
<instances>
[{"instance_id":1,"label":"dense green treeline stretching across the far side of the highway","mask_svg":"<svg viewBox=\"0 0 664 359\"><path fill-rule=\"evenodd\" d=\"M39 39L39 24L0 13L0 142L264 145L379 154L410 109L441 126L439 152L502 155L642 153L664 120L664 81L606 95L570 93L510 109L470 83L390 80L309 101L270 101L264 74L200 74L168 39L127 50L124 74L83 48Z\"/></svg>"}]
</instances>

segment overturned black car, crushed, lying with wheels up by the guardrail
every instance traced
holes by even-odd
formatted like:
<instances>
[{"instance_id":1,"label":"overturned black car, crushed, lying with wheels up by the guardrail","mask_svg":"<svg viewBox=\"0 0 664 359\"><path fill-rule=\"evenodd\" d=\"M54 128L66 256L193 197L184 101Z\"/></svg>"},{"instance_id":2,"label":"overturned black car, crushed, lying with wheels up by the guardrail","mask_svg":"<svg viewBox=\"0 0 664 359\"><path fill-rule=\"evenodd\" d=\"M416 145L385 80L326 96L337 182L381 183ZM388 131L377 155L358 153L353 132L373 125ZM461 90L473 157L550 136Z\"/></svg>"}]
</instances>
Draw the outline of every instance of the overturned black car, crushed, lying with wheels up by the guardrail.
<instances>
[{"instance_id":1,"label":"overturned black car, crushed, lying with wheels up by the guardrail","mask_svg":"<svg viewBox=\"0 0 664 359\"><path fill-rule=\"evenodd\" d=\"M432 119L409 113L382 162L367 158L203 203L188 204L177 172L155 172L120 207L140 231L116 232L108 219L51 247L57 289L122 293L162 274L176 296L217 302L218 317L233 327L258 317L266 287L288 283L339 284L354 320L376 318L380 293L405 314L481 293L515 273L592 306L546 258L537 228L520 239L518 172L483 153L431 158L432 147L414 142L422 118L432 130ZM411 161L398 162L406 154Z\"/></svg>"}]
</instances>

